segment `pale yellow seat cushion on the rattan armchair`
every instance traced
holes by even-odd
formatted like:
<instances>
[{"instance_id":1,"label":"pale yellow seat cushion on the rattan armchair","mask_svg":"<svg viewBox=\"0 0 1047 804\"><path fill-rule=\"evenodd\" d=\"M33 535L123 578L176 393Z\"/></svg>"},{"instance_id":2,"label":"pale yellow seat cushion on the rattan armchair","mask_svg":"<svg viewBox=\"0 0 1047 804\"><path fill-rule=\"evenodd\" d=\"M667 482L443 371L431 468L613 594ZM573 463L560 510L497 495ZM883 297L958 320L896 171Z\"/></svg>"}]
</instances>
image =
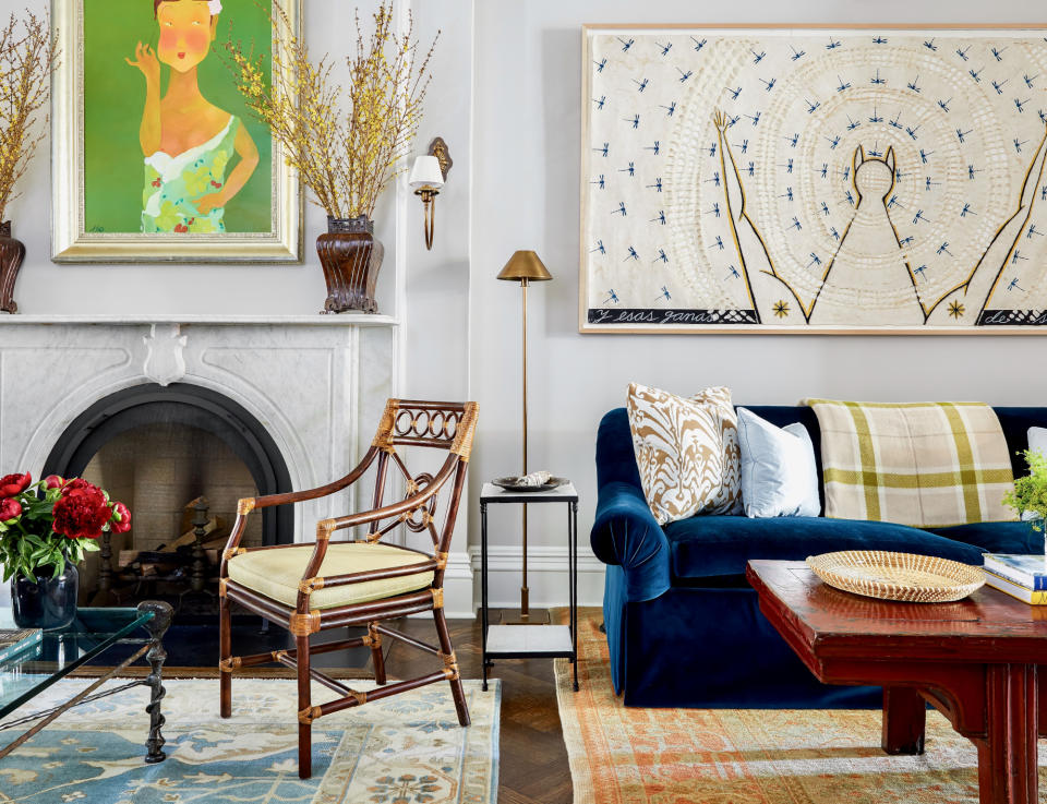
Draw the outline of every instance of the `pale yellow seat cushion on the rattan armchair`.
<instances>
[{"instance_id":1,"label":"pale yellow seat cushion on the rattan armchair","mask_svg":"<svg viewBox=\"0 0 1047 804\"><path fill-rule=\"evenodd\" d=\"M312 544L242 553L229 560L229 579L258 595L278 600L285 605L294 607L298 604L298 585L312 555ZM371 569L387 569L419 564L423 561L425 556L392 544L332 542L327 547L327 553L324 555L324 562L317 575L329 577ZM309 608L333 609L338 605L365 603L369 600L382 600L416 589L424 589L432 583L433 572L430 569L398 578L364 580L359 584L317 589L310 596Z\"/></svg>"}]
</instances>

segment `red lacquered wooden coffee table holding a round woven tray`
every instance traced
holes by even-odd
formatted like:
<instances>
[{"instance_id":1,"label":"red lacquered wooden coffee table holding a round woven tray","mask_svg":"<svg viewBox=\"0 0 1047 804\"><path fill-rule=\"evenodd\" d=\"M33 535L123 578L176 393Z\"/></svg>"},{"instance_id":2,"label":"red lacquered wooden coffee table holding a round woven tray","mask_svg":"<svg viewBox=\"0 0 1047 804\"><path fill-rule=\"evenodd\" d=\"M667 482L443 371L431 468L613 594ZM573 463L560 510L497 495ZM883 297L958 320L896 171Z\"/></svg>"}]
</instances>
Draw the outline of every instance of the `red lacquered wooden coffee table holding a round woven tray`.
<instances>
[{"instance_id":1,"label":"red lacquered wooden coffee table holding a round woven tray","mask_svg":"<svg viewBox=\"0 0 1047 804\"><path fill-rule=\"evenodd\" d=\"M956 603L875 600L826 586L802 562L750 561L746 576L819 681L883 687L883 751L923 753L927 701L977 746L982 804L1036 804L1047 607L989 587Z\"/></svg>"}]
</instances>

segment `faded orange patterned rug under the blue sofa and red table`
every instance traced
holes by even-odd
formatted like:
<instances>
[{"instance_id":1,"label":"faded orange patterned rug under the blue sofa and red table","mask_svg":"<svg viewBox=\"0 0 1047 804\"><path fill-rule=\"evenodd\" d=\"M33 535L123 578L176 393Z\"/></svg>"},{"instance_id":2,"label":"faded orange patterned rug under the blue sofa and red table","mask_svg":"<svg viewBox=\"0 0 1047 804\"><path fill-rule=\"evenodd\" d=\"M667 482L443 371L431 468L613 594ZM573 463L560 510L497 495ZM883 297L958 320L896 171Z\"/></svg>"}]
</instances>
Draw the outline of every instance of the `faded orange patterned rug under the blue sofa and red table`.
<instances>
[{"instance_id":1,"label":"faded orange patterned rug under the blue sofa and red table","mask_svg":"<svg viewBox=\"0 0 1047 804\"><path fill-rule=\"evenodd\" d=\"M937 712L927 751L880 751L868 710L638 709L611 686L602 615L580 621L580 692L556 660L576 804L977 804L977 755ZM700 683L696 679L695 683ZM1040 741L1047 790L1047 741Z\"/></svg>"}]
</instances>

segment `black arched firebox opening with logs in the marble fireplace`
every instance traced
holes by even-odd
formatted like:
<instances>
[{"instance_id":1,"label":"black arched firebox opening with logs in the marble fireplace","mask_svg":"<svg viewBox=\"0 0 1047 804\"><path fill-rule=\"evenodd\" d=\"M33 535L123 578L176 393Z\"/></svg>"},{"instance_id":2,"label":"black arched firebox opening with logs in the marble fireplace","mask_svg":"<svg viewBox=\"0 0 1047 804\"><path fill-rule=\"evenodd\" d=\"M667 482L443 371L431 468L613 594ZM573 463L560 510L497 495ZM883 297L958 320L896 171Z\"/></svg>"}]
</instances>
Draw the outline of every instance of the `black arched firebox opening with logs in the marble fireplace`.
<instances>
[{"instance_id":1,"label":"black arched firebox opening with logs in the marble fireplace","mask_svg":"<svg viewBox=\"0 0 1047 804\"><path fill-rule=\"evenodd\" d=\"M203 584L207 593L200 597L209 603L197 604L198 613L214 604L215 560L237 496L291 490L287 463L265 425L220 393L188 383L136 385L99 399L58 439L44 472L86 473L131 506L131 533L113 537L105 561L92 555L83 602L174 597L180 603ZM245 539L255 545L293 540L293 506L258 514ZM195 535L193 518L205 536Z\"/></svg>"}]
</instances>

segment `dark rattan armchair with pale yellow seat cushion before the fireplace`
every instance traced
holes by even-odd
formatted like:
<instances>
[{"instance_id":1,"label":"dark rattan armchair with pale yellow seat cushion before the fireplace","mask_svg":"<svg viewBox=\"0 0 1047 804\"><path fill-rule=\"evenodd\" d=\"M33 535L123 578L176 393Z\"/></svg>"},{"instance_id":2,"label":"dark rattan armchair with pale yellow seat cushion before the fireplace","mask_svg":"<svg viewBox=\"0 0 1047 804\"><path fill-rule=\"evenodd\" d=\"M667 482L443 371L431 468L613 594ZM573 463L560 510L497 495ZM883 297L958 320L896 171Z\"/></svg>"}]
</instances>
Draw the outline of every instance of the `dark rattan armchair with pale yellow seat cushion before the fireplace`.
<instances>
[{"instance_id":1,"label":"dark rattan armchair with pale yellow seat cushion before the fireplace","mask_svg":"<svg viewBox=\"0 0 1047 804\"><path fill-rule=\"evenodd\" d=\"M413 689L437 681L450 682L458 722L469 725L469 709L462 692L458 663L444 617L444 569L454 531L455 518L466 480L466 468L477 427L476 403L431 403L389 399L371 448L360 465L340 480L311 491L245 499L222 553L219 580L218 662L220 713L232 710L232 674L240 668L278 662L298 673L298 765L299 776L312 773L312 723L368 700ZM448 452L436 472L412 476L397 446L417 446ZM375 467L373 507L316 525L316 541L305 544L245 549L240 547L248 517L253 511L327 496L356 483ZM406 480L406 496L384 504L389 467ZM434 523L441 491L447 488L443 526ZM387 520L387 521L386 521ZM383 525L383 523L385 523ZM428 531L433 553L383 544L382 538L404 525L413 532ZM332 541L337 530L366 526L366 538ZM293 650L277 650L254 656L232 656L230 604L237 602L269 622L287 628L293 636ZM438 646L429 645L382 624L382 621L432 610ZM364 636L310 647L310 636L329 628L366 626ZM386 683L382 637L400 639L407 645L436 656L437 669L417 679ZM358 692L310 667L310 656L359 646L371 648L376 689ZM313 706L310 681L314 680L341 697Z\"/></svg>"}]
</instances>

